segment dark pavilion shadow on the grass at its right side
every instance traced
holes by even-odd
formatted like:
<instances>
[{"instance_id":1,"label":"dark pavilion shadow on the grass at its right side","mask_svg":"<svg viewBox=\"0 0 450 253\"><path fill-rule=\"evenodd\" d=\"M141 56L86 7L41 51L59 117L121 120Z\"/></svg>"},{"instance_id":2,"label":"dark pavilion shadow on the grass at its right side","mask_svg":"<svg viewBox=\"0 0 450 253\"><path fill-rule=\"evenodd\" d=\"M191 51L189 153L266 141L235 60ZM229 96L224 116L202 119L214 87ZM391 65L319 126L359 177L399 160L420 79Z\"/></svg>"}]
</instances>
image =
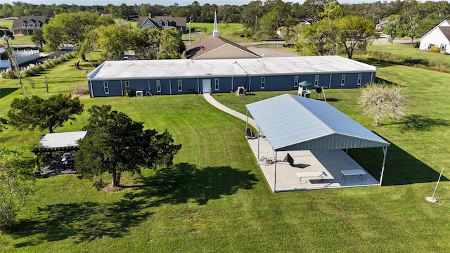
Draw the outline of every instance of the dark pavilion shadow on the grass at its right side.
<instances>
[{"instance_id":1,"label":"dark pavilion shadow on the grass at its right side","mask_svg":"<svg viewBox=\"0 0 450 253\"><path fill-rule=\"evenodd\" d=\"M383 152L381 148L356 148L349 155L375 179L380 181ZM391 143L387 148L383 186L436 182L439 172ZM442 176L441 181L449 181Z\"/></svg>"}]
</instances>

